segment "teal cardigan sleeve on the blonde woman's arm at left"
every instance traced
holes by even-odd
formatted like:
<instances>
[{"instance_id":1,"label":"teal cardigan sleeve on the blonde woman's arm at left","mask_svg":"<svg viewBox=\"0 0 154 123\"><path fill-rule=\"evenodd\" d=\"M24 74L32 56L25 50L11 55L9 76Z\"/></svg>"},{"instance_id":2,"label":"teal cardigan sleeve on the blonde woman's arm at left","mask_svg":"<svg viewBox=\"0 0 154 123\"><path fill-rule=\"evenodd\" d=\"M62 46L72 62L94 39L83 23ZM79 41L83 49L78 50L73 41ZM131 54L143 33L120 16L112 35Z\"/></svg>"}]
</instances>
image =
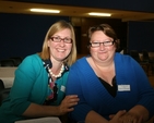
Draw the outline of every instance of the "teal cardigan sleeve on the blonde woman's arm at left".
<instances>
[{"instance_id":1,"label":"teal cardigan sleeve on the blonde woman's arm at left","mask_svg":"<svg viewBox=\"0 0 154 123\"><path fill-rule=\"evenodd\" d=\"M44 71L40 70L43 69L40 67L43 64L36 54L25 58L25 60L15 71L14 83L10 93L10 97L8 98L10 101L7 103L9 104L8 111L10 111L12 114L22 115L31 102L42 103L43 100L45 100L42 98L42 95L45 93L37 93L38 95L35 96L33 95L34 91L40 89L39 86L34 87L34 85L37 85L37 78L40 77L39 72Z\"/></svg>"}]
</instances>

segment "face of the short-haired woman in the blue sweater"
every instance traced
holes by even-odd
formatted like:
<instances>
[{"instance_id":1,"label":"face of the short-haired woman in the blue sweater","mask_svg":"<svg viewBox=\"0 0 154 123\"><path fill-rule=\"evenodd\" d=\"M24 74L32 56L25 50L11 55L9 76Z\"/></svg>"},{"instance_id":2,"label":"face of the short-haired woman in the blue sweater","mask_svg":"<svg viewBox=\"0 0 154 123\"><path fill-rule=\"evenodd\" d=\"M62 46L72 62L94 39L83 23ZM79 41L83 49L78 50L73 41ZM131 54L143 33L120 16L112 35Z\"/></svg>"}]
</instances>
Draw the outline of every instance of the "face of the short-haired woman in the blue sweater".
<instances>
[{"instance_id":1,"label":"face of the short-haired woman in the blue sweater","mask_svg":"<svg viewBox=\"0 0 154 123\"><path fill-rule=\"evenodd\" d=\"M106 36L102 30L97 30L92 34L91 42L105 42L105 41L114 41L112 38ZM99 47L91 47L90 52L92 58L99 62L107 62L114 59L114 54L116 51L115 44L111 46L104 46L103 44Z\"/></svg>"}]
</instances>

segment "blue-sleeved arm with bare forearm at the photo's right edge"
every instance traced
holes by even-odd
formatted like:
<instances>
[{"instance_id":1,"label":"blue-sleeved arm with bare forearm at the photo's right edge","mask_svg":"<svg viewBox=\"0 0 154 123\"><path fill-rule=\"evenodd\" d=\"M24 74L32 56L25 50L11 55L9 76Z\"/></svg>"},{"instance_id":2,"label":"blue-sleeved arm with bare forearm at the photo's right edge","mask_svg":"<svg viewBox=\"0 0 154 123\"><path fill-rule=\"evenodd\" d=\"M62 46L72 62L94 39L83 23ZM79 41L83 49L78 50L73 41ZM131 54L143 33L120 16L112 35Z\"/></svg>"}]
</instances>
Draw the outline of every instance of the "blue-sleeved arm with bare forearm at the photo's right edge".
<instances>
[{"instance_id":1,"label":"blue-sleeved arm with bare forearm at the photo's right edge","mask_svg":"<svg viewBox=\"0 0 154 123\"><path fill-rule=\"evenodd\" d=\"M154 114L154 89L150 85L149 78L142 66L133 59L130 60L130 64L132 72L134 72L132 74L130 73L132 77L130 83L132 83L132 87L134 87L132 89L135 90L138 100L122 119L130 116L139 120L142 118L142 121L145 122Z\"/></svg>"}]
</instances>

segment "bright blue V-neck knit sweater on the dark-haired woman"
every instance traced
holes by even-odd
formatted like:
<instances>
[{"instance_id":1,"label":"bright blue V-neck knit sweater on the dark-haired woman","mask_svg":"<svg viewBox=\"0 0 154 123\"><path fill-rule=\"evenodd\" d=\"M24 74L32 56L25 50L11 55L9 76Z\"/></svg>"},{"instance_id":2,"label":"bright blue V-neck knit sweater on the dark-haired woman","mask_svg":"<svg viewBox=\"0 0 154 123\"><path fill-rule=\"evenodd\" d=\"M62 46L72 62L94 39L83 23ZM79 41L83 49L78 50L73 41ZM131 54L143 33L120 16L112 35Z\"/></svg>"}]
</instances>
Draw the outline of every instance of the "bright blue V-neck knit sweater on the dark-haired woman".
<instances>
[{"instance_id":1,"label":"bright blue V-neck knit sweater on the dark-haired woman","mask_svg":"<svg viewBox=\"0 0 154 123\"><path fill-rule=\"evenodd\" d=\"M128 90L118 88L112 97L99 82L90 66L86 58L81 58L71 67L67 83L67 95L76 94L80 102L74 107L70 116L82 121L94 110L108 120L109 114L119 110L130 110L135 104L142 104L154 115L154 89L141 65L129 56L115 54L116 82L118 87L128 87Z\"/></svg>"}]
</instances>

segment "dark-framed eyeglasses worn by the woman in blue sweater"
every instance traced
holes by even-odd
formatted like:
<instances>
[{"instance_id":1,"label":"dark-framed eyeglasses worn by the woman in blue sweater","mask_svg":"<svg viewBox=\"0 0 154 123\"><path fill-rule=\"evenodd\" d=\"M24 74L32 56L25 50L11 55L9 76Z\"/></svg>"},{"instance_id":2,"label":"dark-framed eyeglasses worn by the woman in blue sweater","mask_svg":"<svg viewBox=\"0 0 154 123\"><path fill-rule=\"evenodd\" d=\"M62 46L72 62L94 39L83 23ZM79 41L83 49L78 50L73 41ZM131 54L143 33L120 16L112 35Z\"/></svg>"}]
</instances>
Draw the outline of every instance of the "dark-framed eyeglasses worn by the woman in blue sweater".
<instances>
[{"instance_id":1,"label":"dark-framed eyeglasses worn by the woman in blue sweater","mask_svg":"<svg viewBox=\"0 0 154 123\"><path fill-rule=\"evenodd\" d=\"M104 41L104 42L90 42L91 47L93 48L97 48L100 46L100 44L103 44L105 47L108 47L108 46L112 46L115 44L115 41Z\"/></svg>"}]
</instances>

